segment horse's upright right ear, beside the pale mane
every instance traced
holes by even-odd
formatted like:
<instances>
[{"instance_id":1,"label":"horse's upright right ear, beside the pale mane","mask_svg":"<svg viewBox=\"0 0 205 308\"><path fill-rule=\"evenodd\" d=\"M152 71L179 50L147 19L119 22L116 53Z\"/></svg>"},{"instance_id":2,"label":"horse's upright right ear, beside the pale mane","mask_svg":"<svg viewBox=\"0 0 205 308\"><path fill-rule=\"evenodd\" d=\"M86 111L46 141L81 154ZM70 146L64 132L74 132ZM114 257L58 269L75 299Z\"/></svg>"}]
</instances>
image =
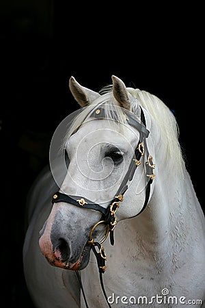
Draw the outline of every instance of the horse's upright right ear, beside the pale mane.
<instances>
[{"instance_id":1,"label":"horse's upright right ear, beside the pale mane","mask_svg":"<svg viewBox=\"0 0 205 308\"><path fill-rule=\"evenodd\" d=\"M128 92L126 90L126 86L124 82L112 75L113 80L113 96L115 97L116 101L120 104L120 107L123 107L127 110L131 110L131 102L128 97Z\"/></svg>"}]
</instances>

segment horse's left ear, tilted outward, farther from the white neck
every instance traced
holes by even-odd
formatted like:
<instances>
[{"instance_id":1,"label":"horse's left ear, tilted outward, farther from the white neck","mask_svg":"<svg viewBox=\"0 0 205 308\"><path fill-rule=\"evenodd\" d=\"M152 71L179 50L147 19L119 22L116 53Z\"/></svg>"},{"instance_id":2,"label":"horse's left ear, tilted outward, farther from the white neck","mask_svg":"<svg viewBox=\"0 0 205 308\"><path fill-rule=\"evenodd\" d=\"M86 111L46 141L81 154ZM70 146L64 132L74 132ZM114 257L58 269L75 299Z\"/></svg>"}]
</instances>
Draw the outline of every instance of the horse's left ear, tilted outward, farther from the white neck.
<instances>
[{"instance_id":1,"label":"horse's left ear, tilted outward, farther from the white neck","mask_svg":"<svg viewBox=\"0 0 205 308\"><path fill-rule=\"evenodd\" d=\"M79 103L79 105L81 105L81 107L86 107L92 101L100 97L100 94L98 92L94 92L90 89L81 86L74 79L74 77L70 77L69 88L70 92L72 93L72 96Z\"/></svg>"}]
</instances>

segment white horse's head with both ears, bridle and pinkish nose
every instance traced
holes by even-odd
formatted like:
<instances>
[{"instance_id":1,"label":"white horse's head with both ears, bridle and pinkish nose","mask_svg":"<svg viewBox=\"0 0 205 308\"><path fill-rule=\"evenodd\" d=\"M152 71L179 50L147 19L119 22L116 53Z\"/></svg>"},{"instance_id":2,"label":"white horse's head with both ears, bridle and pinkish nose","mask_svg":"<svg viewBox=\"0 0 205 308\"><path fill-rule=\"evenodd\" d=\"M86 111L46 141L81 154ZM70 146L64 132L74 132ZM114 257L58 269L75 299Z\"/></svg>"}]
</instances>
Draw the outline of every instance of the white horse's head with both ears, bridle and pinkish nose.
<instances>
[{"instance_id":1,"label":"white horse's head with both ears, bridle and pinkish nose","mask_svg":"<svg viewBox=\"0 0 205 308\"><path fill-rule=\"evenodd\" d=\"M94 242L113 234L120 220L137 216L152 194L151 120L123 81L112 81L109 91L98 93L70 78L81 108L63 136L69 164L39 240L53 266L85 268Z\"/></svg>"}]
</instances>

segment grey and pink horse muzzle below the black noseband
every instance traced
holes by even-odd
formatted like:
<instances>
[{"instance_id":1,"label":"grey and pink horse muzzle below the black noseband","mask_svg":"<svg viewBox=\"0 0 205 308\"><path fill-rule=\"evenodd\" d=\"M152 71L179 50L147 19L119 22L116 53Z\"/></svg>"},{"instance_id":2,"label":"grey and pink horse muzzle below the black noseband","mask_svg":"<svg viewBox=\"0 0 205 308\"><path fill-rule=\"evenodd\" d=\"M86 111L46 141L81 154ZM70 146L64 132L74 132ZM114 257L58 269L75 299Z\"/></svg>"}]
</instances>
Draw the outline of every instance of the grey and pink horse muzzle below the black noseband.
<instances>
[{"instance_id":1,"label":"grey and pink horse muzzle below the black noseband","mask_svg":"<svg viewBox=\"0 0 205 308\"><path fill-rule=\"evenodd\" d=\"M49 264L77 270L85 268L90 259L91 245L87 244L90 230L83 222L74 220L71 207L64 203L53 206L40 231L39 246Z\"/></svg>"}]
</instances>

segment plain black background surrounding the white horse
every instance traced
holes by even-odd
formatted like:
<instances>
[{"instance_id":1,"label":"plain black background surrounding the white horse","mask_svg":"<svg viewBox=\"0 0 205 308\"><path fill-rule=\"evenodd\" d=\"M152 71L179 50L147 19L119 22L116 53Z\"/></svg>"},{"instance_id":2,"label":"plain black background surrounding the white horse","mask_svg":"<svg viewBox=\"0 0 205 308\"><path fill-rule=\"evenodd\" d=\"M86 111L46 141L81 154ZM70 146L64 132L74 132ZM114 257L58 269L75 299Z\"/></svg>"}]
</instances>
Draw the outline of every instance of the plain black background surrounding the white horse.
<instances>
[{"instance_id":1,"label":"plain black background surrounding the white horse","mask_svg":"<svg viewBox=\"0 0 205 308\"><path fill-rule=\"evenodd\" d=\"M1 1L3 307L32 307L22 264L25 199L49 162L55 128L79 108L68 90L70 76L98 91L116 75L164 101L178 121L187 169L204 208L203 10L187 3L110 5Z\"/></svg>"}]
</instances>

